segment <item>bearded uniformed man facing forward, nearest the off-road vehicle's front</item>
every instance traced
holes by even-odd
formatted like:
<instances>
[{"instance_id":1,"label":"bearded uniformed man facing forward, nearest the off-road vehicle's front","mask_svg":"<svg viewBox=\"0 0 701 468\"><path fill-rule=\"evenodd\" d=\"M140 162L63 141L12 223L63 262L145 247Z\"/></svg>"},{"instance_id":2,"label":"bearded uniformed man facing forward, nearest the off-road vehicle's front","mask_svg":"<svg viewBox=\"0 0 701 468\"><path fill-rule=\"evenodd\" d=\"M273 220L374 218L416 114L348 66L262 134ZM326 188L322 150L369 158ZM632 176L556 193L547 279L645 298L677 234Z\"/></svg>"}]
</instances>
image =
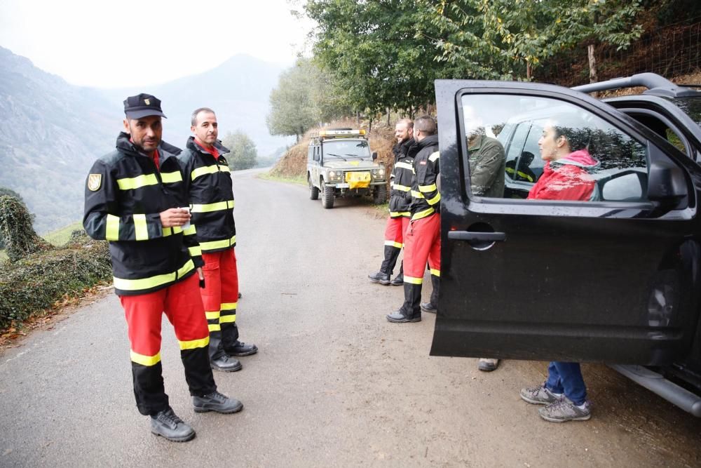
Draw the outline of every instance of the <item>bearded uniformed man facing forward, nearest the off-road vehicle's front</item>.
<instances>
[{"instance_id":1,"label":"bearded uniformed man facing forward, nearest the off-road vehicle's front","mask_svg":"<svg viewBox=\"0 0 701 468\"><path fill-rule=\"evenodd\" d=\"M397 145L393 147L395 154L392 175L390 175L390 217L385 227L385 248L382 265L379 272L367 277L373 283L392 286L402 286L404 283L404 265L394 279L390 279L397 259L404 246L404 233L409 227L409 205L411 203L411 180L414 178L414 157L409 154L409 148L414 145L414 122L402 119L395 126Z\"/></svg>"}]
</instances>

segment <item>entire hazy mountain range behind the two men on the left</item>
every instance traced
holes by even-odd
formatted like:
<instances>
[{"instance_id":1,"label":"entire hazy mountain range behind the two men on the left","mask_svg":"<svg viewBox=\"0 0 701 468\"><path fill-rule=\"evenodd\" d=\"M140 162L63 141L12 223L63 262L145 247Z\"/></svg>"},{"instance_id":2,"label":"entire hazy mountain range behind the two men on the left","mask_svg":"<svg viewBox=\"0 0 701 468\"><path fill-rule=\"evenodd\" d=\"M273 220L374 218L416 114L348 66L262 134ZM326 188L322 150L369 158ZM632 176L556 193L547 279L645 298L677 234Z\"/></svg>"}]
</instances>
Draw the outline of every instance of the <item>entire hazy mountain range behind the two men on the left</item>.
<instances>
[{"instance_id":1,"label":"entire hazy mountain range behind the two men on the left","mask_svg":"<svg viewBox=\"0 0 701 468\"><path fill-rule=\"evenodd\" d=\"M88 170L114 148L125 96L142 91L163 100L164 139L176 146L189 136L193 109L207 106L217 111L222 137L240 129L261 156L271 154L289 142L268 135L265 124L280 71L237 55L203 74L148 89L106 91L72 86L0 47L0 186L22 195L39 233L81 219Z\"/></svg>"}]
</instances>

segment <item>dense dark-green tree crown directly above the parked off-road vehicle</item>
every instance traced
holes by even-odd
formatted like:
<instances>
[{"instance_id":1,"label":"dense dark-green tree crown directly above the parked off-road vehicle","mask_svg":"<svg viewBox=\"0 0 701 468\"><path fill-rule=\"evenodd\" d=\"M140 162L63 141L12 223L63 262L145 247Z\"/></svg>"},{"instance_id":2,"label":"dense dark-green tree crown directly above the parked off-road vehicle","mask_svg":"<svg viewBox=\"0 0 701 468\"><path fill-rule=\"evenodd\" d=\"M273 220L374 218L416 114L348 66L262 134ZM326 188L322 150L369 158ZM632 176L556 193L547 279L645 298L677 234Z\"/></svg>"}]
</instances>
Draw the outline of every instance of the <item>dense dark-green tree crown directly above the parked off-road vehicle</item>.
<instances>
[{"instance_id":1,"label":"dense dark-green tree crown directly above the parked off-road vehicle","mask_svg":"<svg viewBox=\"0 0 701 468\"><path fill-rule=\"evenodd\" d=\"M318 23L315 57L334 76L348 103L372 114L433 102L440 77L427 36L417 33L430 7L420 1L310 0Z\"/></svg>"}]
</instances>

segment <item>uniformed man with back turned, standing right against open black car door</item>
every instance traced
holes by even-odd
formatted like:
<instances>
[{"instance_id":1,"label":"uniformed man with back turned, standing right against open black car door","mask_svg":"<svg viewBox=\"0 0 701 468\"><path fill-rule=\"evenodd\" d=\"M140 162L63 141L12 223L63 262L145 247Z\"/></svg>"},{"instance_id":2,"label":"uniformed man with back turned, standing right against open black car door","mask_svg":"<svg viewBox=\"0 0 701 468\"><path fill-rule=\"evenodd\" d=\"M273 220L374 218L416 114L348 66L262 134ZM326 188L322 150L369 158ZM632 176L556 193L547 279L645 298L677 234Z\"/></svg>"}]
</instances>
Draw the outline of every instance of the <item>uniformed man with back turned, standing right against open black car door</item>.
<instances>
[{"instance_id":1,"label":"uniformed man with back turned, standing right against open black car door","mask_svg":"<svg viewBox=\"0 0 701 468\"><path fill-rule=\"evenodd\" d=\"M436 123L430 116L414 122L414 179L411 182L411 221L404 236L404 304L388 314L395 323L421 321L421 310L433 312L440 286L440 153ZM433 293L430 302L421 304L421 285L426 262Z\"/></svg>"}]
</instances>

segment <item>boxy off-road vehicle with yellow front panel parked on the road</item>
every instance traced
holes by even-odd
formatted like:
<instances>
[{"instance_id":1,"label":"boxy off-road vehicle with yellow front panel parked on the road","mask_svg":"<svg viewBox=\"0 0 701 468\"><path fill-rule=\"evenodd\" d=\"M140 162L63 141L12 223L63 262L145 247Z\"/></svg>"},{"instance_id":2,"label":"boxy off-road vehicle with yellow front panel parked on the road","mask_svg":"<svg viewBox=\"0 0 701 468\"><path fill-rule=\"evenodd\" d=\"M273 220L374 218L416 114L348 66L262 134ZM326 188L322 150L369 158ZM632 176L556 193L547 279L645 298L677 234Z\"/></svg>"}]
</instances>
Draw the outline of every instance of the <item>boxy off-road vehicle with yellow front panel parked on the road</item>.
<instances>
[{"instance_id":1,"label":"boxy off-road vehicle with yellow front panel parked on the road","mask_svg":"<svg viewBox=\"0 0 701 468\"><path fill-rule=\"evenodd\" d=\"M387 200L385 168L370 153L365 130L322 130L309 143L307 182L309 198L321 192L324 208L334 207L336 196L372 195L374 203Z\"/></svg>"}]
</instances>

